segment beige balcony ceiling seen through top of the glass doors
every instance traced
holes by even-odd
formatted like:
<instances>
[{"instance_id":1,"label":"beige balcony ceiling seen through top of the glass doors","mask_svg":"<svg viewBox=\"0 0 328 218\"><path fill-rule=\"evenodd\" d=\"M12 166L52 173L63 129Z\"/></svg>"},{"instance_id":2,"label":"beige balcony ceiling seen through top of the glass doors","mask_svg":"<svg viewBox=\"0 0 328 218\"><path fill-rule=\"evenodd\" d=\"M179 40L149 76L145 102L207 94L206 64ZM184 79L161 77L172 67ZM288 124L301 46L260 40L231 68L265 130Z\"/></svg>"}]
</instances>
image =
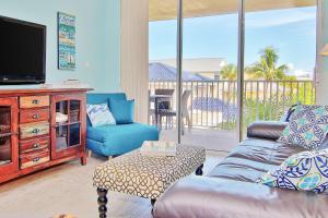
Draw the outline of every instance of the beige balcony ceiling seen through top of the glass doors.
<instances>
[{"instance_id":1,"label":"beige balcony ceiling seen through top of the glass doors","mask_svg":"<svg viewBox=\"0 0 328 218\"><path fill-rule=\"evenodd\" d=\"M210 16L237 13L239 0L184 0L184 16ZM313 7L316 0L246 0L246 12ZM177 0L149 0L149 20L174 20Z\"/></svg>"}]
</instances>

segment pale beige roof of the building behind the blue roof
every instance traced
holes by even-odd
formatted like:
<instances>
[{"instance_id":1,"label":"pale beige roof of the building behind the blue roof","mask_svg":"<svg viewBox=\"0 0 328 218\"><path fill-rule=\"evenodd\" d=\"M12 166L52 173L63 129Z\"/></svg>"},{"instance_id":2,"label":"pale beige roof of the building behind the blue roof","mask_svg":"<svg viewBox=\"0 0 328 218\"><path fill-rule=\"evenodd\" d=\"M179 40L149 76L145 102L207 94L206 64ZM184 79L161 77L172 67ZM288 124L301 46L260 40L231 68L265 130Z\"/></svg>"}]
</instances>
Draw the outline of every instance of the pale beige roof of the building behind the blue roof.
<instances>
[{"instance_id":1,"label":"pale beige roof of the building behind the blue roof","mask_svg":"<svg viewBox=\"0 0 328 218\"><path fill-rule=\"evenodd\" d=\"M176 66L176 59L164 59L155 62ZM192 73L220 72L225 64L226 62L223 58L195 58L183 60L183 69Z\"/></svg>"}]
</instances>

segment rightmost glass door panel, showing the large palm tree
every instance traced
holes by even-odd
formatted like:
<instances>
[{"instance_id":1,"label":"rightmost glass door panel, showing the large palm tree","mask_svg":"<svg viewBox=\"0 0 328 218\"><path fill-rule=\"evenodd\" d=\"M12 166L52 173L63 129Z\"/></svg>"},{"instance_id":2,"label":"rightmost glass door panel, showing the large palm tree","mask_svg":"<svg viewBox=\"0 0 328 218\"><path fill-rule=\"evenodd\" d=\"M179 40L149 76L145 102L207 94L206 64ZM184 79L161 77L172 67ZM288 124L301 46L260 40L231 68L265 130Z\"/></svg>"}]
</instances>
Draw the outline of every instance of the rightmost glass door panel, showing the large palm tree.
<instances>
[{"instance_id":1,"label":"rightmost glass door panel, showing the large palm tree","mask_svg":"<svg viewBox=\"0 0 328 218\"><path fill-rule=\"evenodd\" d=\"M245 0L245 9L243 130L315 102L317 16L316 0Z\"/></svg>"}]
</instances>

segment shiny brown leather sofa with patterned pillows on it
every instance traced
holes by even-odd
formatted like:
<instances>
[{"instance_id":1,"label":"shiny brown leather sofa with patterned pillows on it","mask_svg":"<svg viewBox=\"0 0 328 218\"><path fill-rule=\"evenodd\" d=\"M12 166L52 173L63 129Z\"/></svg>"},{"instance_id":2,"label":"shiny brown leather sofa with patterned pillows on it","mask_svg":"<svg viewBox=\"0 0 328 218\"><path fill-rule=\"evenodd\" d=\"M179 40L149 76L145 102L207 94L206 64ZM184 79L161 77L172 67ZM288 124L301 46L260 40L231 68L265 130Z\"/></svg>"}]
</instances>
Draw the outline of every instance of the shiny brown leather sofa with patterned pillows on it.
<instances>
[{"instance_id":1,"label":"shiny brown leather sofa with patterned pillows on it","mask_svg":"<svg viewBox=\"0 0 328 218\"><path fill-rule=\"evenodd\" d=\"M154 217L328 217L328 197L325 194L269 187L256 182L290 155L305 150L276 142L285 125L284 122L251 124L247 140L207 177L190 175L168 187L154 205Z\"/></svg>"}]
</instances>

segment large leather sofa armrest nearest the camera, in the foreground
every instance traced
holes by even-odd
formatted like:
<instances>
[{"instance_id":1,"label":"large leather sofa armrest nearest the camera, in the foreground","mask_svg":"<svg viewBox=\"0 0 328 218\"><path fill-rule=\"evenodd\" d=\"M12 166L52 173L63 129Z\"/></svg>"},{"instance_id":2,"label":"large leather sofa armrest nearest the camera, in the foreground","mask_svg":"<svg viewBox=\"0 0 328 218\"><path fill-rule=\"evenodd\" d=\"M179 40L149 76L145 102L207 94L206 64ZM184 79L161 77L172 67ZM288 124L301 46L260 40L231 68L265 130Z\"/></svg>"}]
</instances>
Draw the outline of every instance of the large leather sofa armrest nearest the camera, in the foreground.
<instances>
[{"instance_id":1,"label":"large leather sofa armrest nearest the camera, in the foreground","mask_svg":"<svg viewBox=\"0 0 328 218\"><path fill-rule=\"evenodd\" d=\"M188 177L155 203L155 218L312 218L327 216L328 197L226 179Z\"/></svg>"}]
</instances>

